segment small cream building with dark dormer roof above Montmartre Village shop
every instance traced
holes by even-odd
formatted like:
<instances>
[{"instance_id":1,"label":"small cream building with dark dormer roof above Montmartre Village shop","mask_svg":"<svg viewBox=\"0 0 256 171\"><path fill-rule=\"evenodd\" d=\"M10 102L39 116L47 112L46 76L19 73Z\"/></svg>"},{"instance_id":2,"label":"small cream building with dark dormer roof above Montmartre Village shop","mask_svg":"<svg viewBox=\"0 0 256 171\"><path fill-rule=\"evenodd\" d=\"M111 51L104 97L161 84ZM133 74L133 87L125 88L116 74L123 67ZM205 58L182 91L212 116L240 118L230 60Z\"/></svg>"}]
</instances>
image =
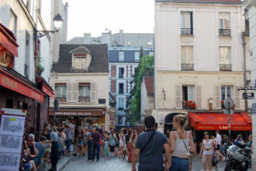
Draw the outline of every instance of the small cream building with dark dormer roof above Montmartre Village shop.
<instances>
[{"instance_id":1,"label":"small cream building with dark dormer roof above Montmartre Village shop","mask_svg":"<svg viewBox=\"0 0 256 171\"><path fill-rule=\"evenodd\" d=\"M59 111L51 101L50 122L108 130L108 45L61 44L59 54L50 78Z\"/></svg>"}]
</instances>

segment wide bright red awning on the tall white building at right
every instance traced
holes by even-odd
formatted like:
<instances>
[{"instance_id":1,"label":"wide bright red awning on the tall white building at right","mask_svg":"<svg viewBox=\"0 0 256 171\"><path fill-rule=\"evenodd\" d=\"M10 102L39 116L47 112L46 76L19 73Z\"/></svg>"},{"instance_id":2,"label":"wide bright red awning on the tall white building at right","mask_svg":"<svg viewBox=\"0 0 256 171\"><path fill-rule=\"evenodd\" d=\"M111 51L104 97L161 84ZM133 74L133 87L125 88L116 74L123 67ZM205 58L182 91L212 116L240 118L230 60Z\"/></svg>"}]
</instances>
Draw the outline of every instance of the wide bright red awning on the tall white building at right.
<instances>
[{"instance_id":1,"label":"wide bright red awning on the tall white building at right","mask_svg":"<svg viewBox=\"0 0 256 171\"><path fill-rule=\"evenodd\" d=\"M229 130L229 115L219 113L189 113L190 126L197 130ZM251 131L252 118L247 113L230 115L231 130Z\"/></svg>"}]
</instances>

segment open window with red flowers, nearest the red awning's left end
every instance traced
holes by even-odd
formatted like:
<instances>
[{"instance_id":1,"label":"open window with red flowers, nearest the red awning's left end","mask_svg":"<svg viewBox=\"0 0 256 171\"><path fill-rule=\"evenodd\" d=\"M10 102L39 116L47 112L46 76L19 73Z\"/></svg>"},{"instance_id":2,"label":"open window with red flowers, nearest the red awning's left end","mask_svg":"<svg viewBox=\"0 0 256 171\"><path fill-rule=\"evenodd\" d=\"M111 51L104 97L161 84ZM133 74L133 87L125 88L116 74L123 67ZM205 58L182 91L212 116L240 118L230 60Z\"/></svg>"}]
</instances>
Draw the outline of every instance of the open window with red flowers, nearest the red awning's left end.
<instances>
[{"instance_id":1,"label":"open window with red flowers, nearest the red awning's left end","mask_svg":"<svg viewBox=\"0 0 256 171\"><path fill-rule=\"evenodd\" d=\"M183 86L183 109L195 109L195 86Z\"/></svg>"}]
</instances>

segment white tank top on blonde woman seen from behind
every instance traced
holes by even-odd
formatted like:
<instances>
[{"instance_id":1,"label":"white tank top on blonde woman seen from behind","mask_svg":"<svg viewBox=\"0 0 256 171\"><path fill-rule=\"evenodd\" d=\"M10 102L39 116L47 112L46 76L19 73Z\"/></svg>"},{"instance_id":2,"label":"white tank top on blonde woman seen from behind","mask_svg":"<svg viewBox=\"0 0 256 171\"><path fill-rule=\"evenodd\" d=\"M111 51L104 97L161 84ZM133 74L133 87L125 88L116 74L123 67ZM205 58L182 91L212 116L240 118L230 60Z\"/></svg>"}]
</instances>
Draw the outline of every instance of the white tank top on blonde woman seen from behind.
<instances>
[{"instance_id":1,"label":"white tank top on blonde woman seen from behind","mask_svg":"<svg viewBox=\"0 0 256 171\"><path fill-rule=\"evenodd\" d=\"M183 140L178 138L176 131L174 132L176 134L177 140L175 141L175 149L172 152L173 157L189 156L189 131L186 132L187 138ZM183 141L186 144L188 150L186 149Z\"/></svg>"}]
</instances>

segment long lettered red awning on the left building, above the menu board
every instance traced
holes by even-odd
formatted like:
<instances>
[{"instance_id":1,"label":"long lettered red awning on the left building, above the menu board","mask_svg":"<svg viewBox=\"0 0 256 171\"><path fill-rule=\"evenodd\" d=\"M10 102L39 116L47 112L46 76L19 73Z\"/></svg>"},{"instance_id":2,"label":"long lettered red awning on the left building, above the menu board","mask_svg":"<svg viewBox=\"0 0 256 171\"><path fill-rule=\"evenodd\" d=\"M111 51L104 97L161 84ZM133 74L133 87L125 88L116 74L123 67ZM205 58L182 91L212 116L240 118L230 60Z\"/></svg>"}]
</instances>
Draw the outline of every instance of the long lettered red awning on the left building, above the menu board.
<instances>
[{"instance_id":1,"label":"long lettered red awning on the left building, above the menu board","mask_svg":"<svg viewBox=\"0 0 256 171\"><path fill-rule=\"evenodd\" d=\"M18 92L19 94L26 95L34 100L38 100L40 102L44 101L44 94L37 88L33 88L31 85L24 83L3 69L0 69L0 85Z\"/></svg>"}]
</instances>

